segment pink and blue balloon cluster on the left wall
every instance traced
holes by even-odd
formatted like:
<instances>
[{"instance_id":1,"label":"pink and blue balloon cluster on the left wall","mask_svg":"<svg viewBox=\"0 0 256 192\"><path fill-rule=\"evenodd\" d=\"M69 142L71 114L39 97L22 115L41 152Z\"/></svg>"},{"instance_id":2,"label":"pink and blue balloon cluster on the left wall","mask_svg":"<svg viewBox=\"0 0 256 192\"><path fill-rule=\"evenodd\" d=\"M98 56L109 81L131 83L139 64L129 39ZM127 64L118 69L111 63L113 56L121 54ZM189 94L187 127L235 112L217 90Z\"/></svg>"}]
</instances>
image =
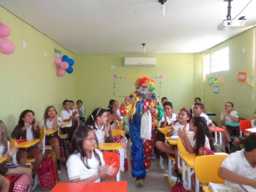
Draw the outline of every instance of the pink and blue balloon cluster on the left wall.
<instances>
[{"instance_id":1,"label":"pink and blue balloon cluster on the left wall","mask_svg":"<svg viewBox=\"0 0 256 192\"><path fill-rule=\"evenodd\" d=\"M73 73L73 65L75 64L72 58L68 58L67 55L63 55L62 58L55 57L54 63L58 65L57 76L62 77L65 75L65 70L67 73Z\"/></svg>"}]
</instances>

